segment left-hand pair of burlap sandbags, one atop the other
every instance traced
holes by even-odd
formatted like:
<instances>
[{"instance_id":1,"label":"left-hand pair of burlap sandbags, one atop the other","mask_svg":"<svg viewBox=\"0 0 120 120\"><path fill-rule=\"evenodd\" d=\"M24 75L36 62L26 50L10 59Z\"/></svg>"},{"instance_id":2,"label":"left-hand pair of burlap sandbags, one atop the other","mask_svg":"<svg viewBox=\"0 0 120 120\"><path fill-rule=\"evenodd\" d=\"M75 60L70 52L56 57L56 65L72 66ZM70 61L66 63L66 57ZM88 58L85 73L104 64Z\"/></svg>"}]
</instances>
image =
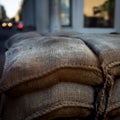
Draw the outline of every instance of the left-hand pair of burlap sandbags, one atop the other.
<instances>
[{"instance_id":1,"label":"left-hand pair of burlap sandbags, one atop the other","mask_svg":"<svg viewBox=\"0 0 120 120\"><path fill-rule=\"evenodd\" d=\"M6 52L0 82L3 118L88 117L95 110L95 88L102 82L96 55L80 39L23 39Z\"/></svg>"}]
</instances>

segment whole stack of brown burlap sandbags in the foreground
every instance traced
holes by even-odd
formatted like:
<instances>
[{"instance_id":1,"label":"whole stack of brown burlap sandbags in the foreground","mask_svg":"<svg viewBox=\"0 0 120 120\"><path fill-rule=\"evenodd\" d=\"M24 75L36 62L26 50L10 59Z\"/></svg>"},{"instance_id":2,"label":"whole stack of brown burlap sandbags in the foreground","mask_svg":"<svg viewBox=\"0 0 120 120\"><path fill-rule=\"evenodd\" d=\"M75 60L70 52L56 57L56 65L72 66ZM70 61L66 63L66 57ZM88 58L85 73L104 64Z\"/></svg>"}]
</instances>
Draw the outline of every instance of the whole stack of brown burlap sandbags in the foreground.
<instances>
[{"instance_id":1,"label":"whole stack of brown burlap sandbags in the foreground","mask_svg":"<svg viewBox=\"0 0 120 120\"><path fill-rule=\"evenodd\" d=\"M0 81L3 120L119 117L119 38L12 36Z\"/></svg>"}]
</instances>

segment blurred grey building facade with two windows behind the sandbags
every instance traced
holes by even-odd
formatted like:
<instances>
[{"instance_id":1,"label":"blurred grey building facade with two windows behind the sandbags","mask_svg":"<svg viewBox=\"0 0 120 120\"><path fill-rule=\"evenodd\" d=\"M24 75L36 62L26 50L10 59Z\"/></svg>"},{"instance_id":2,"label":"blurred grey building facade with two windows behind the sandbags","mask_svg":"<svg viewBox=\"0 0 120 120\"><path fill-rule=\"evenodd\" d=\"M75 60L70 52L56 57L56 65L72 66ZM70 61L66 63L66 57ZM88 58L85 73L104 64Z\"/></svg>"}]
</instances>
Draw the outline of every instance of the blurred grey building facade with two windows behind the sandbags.
<instances>
[{"instance_id":1,"label":"blurred grey building facade with two windows behind the sandbags","mask_svg":"<svg viewBox=\"0 0 120 120\"><path fill-rule=\"evenodd\" d=\"M22 20L40 33L120 32L120 0L24 0Z\"/></svg>"}]
</instances>

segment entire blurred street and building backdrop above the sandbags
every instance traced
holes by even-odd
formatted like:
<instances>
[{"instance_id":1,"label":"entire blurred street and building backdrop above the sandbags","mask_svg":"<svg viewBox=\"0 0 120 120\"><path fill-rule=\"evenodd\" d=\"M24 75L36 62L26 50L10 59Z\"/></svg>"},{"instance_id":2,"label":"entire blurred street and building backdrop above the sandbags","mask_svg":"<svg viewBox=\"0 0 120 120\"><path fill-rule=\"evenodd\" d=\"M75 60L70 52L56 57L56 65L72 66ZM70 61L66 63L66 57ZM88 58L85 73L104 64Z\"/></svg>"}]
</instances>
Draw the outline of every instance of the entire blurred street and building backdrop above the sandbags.
<instances>
[{"instance_id":1,"label":"entire blurred street and building backdrop above the sandbags","mask_svg":"<svg viewBox=\"0 0 120 120\"><path fill-rule=\"evenodd\" d=\"M19 32L119 33L120 0L0 0L0 41Z\"/></svg>"}]
</instances>

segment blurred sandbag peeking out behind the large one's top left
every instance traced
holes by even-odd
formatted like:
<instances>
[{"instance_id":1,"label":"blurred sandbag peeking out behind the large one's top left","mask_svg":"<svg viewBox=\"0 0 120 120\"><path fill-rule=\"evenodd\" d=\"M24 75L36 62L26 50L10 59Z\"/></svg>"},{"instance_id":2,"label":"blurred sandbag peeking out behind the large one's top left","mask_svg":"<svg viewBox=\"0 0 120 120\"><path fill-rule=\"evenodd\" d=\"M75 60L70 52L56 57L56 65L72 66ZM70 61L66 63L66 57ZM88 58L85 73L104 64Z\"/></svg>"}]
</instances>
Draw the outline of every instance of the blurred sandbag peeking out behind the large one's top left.
<instances>
[{"instance_id":1,"label":"blurred sandbag peeking out behind the large one's top left","mask_svg":"<svg viewBox=\"0 0 120 120\"><path fill-rule=\"evenodd\" d=\"M10 37L6 42L5 42L5 47L6 49L9 49L10 47L14 47L16 44L19 42L23 42L26 39L30 38L35 38L35 37L40 37L41 35L37 32L24 32L24 33L17 33ZM20 44L20 43L19 43Z\"/></svg>"}]
</instances>

